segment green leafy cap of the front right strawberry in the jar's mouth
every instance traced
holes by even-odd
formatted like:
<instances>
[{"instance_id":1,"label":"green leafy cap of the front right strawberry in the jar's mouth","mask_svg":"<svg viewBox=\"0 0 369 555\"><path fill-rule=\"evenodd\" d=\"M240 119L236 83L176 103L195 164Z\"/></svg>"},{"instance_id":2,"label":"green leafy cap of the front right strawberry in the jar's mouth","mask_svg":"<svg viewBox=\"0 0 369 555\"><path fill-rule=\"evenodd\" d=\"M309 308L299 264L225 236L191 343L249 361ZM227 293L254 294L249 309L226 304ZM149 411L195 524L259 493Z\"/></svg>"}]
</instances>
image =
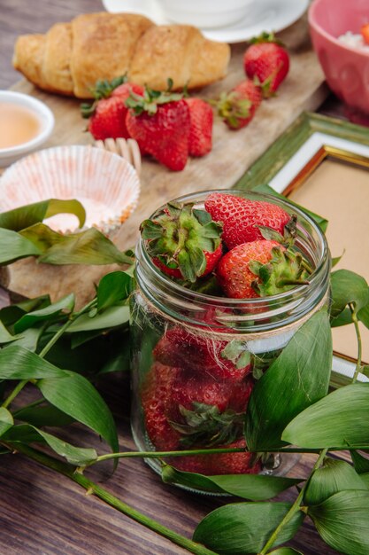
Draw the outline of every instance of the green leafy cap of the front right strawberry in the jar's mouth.
<instances>
[{"instance_id":1,"label":"green leafy cap of the front right strawberry in the jar's mouth","mask_svg":"<svg viewBox=\"0 0 369 555\"><path fill-rule=\"evenodd\" d=\"M249 269L258 277L251 286L260 297L284 293L296 285L309 285L308 268L302 254L273 246L269 262L249 262Z\"/></svg>"}]
</instances>

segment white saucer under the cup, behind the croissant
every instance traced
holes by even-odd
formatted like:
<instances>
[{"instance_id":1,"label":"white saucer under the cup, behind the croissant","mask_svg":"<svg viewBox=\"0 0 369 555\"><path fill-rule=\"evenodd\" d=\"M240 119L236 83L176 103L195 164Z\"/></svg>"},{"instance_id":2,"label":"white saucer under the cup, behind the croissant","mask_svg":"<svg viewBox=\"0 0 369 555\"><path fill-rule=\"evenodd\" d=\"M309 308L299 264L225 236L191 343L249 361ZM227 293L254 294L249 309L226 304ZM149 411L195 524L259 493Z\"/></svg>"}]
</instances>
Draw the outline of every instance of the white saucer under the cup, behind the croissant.
<instances>
[{"instance_id":1,"label":"white saucer under the cup, behind the croissant","mask_svg":"<svg viewBox=\"0 0 369 555\"><path fill-rule=\"evenodd\" d=\"M156 0L102 0L107 12L141 13L158 25L170 23ZM227 4L227 0L225 0ZM242 43L263 31L281 31L298 20L309 0L257 0L252 6L253 18L246 7L244 17L233 25L217 28L200 27L204 36L224 43Z\"/></svg>"}]
</instances>

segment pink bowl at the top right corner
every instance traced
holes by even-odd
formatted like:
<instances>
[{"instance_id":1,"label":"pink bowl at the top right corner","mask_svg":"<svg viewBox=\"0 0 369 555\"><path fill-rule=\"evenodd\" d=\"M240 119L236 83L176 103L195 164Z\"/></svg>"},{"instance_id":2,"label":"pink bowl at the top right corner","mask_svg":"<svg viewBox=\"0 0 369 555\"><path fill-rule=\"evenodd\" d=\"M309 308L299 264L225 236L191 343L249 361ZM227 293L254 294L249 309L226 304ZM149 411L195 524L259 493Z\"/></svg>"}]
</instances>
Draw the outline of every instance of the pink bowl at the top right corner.
<instances>
[{"instance_id":1,"label":"pink bowl at the top right corner","mask_svg":"<svg viewBox=\"0 0 369 555\"><path fill-rule=\"evenodd\" d=\"M369 22L368 0L314 0L309 25L329 87L346 104L369 113L369 51L338 40Z\"/></svg>"}]
</instances>

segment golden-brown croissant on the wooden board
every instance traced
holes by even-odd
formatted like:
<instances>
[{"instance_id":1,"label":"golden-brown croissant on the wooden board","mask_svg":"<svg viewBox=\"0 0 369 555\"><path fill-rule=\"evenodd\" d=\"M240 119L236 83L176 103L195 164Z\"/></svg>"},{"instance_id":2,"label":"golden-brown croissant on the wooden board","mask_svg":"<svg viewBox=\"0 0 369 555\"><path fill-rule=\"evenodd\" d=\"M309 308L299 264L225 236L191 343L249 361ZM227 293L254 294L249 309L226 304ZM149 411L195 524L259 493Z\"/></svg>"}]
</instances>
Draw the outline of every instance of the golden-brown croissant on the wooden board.
<instances>
[{"instance_id":1,"label":"golden-brown croissant on the wooden board","mask_svg":"<svg viewBox=\"0 0 369 555\"><path fill-rule=\"evenodd\" d=\"M91 98L97 80L127 74L165 90L203 87L227 73L230 48L188 25L155 25L134 13L88 13L46 35L21 35L13 66L43 90Z\"/></svg>"}]
</instances>

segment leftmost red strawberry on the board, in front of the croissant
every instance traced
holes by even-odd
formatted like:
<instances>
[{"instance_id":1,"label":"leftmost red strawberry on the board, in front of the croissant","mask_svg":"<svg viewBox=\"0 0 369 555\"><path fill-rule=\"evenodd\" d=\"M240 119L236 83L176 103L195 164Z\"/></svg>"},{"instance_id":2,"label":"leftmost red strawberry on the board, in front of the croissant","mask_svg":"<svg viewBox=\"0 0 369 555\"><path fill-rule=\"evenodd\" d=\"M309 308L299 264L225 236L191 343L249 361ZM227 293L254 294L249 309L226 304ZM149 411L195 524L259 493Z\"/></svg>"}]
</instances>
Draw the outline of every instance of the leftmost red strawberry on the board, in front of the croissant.
<instances>
[{"instance_id":1,"label":"leftmost red strawberry on the board, in front of the croissant","mask_svg":"<svg viewBox=\"0 0 369 555\"><path fill-rule=\"evenodd\" d=\"M130 137L126 127L128 109L125 101L132 92L142 96L143 87L125 82L124 77L96 83L93 91L95 102L81 105L83 117L89 118L88 131L96 140Z\"/></svg>"}]
</instances>

